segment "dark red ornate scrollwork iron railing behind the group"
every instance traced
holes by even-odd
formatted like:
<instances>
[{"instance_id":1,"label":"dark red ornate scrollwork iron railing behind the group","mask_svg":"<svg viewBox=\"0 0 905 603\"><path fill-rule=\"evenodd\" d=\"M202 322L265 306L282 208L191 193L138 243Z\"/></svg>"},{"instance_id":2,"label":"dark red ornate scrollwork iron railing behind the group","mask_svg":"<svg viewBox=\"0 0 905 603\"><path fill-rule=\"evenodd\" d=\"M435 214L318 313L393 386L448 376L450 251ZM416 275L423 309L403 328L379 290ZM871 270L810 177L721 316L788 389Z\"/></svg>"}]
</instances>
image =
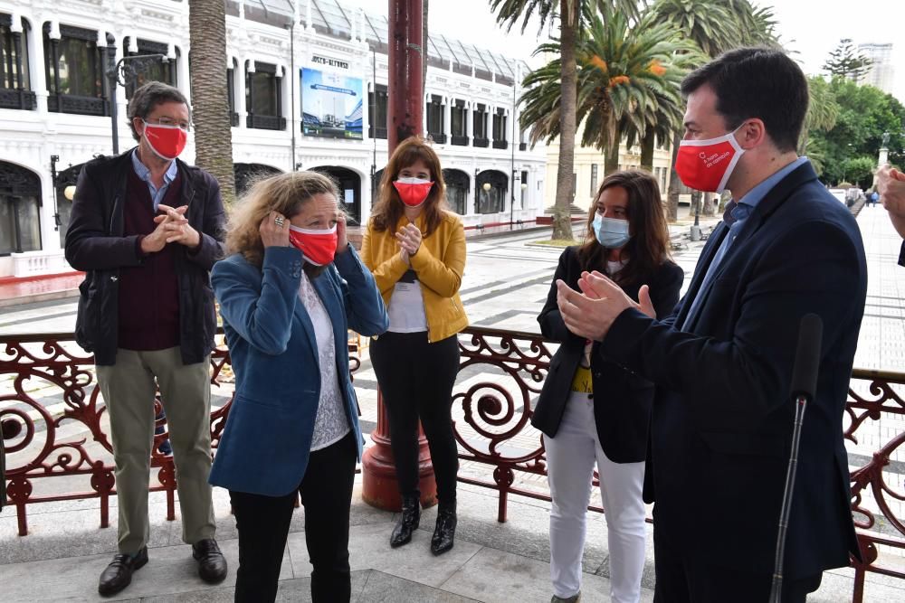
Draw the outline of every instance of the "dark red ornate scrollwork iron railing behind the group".
<instances>
[{"instance_id":1,"label":"dark red ornate scrollwork iron railing behind the group","mask_svg":"<svg viewBox=\"0 0 905 603\"><path fill-rule=\"evenodd\" d=\"M529 419L556 344L538 334L479 327L466 329L459 344L453 417L459 457L468 466L459 480L496 490L498 520L505 522L509 495L549 500L543 441ZM357 357L351 360L354 371L360 363ZM100 498L100 525L110 523L114 467L92 367L93 358L72 342L71 334L0 336L7 495L21 535L28 532L28 506L48 501ZM211 357L211 383L214 396L224 400L211 415L215 447L232 399L229 353L222 346ZM905 373L853 372L843 427L850 442L850 465L857 467L851 474L852 508L864 557L852 564L853 600L858 602L868 572L905 579L903 392ZM46 408L49 400L53 410ZM157 452L164 438L166 433L155 439L151 464L159 485L153 489L167 492L167 519L172 520L176 491L172 458ZM491 470L481 476L481 466ZM67 477L71 483L42 491L47 480Z\"/></svg>"}]
</instances>

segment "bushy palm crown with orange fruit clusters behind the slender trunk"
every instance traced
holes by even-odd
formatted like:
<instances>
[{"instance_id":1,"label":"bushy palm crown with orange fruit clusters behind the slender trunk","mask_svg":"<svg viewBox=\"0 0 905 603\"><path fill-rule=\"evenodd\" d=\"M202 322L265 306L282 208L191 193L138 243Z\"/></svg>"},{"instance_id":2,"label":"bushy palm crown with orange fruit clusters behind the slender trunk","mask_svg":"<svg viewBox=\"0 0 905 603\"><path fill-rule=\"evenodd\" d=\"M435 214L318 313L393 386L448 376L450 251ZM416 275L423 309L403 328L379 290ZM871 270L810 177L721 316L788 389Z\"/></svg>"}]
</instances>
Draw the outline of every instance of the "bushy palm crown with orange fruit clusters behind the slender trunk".
<instances>
[{"instance_id":1,"label":"bushy palm crown with orange fruit clusters behind the slender trunk","mask_svg":"<svg viewBox=\"0 0 905 603\"><path fill-rule=\"evenodd\" d=\"M611 174L618 166L620 139L627 137L629 145L643 139L643 163L650 166L657 137L671 137L681 123L679 82L686 70L675 61L700 55L691 42L678 39L670 24L643 21L631 27L628 17L609 10L588 14L586 21L576 44L581 144L605 151L605 174ZM537 52L556 56L561 47L561 42L550 42ZM560 68L561 60L554 59L525 78L529 90L521 98L522 124L531 126L532 145L565 137Z\"/></svg>"}]
</instances>

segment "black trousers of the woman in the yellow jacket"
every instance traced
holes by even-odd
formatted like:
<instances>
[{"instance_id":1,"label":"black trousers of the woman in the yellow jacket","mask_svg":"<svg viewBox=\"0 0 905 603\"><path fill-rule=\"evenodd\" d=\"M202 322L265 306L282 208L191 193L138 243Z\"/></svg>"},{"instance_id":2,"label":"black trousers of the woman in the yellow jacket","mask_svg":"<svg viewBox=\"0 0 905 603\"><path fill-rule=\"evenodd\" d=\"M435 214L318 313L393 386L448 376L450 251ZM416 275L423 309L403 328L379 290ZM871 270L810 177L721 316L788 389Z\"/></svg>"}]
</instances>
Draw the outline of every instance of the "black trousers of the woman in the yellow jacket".
<instances>
[{"instance_id":1,"label":"black trousers of the woman in the yellow jacket","mask_svg":"<svg viewBox=\"0 0 905 603\"><path fill-rule=\"evenodd\" d=\"M371 344L371 364L383 392L399 493L418 497L418 419L431 449L440 507L455 504L459 451L452 435L452 385L459 340L428 343L427 332L385 333Z\"/></svg>"}]
</instances>

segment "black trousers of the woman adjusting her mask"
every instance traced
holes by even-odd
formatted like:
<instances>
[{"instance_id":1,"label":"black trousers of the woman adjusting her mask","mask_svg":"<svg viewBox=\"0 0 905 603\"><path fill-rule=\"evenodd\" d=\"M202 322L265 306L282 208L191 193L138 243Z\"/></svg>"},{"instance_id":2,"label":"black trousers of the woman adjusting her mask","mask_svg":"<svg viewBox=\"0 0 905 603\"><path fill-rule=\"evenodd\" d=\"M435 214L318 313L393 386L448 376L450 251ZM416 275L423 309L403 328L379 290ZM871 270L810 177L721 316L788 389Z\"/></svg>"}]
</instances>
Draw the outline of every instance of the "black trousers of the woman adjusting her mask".
<instances>
[{"instance_id":1,"label":"black trousers of the woman adjusting her mask","mask_svg":"<svg viewBox=\"0 0 905 603\"><path fill-rule=\"evenodd\" d=\"M351 598L348 514L356 459L355 435L349 431L335 444L310 453L298 488L305 507L305 543L314 566L311 598L315 603ZM235 600L273 601L297 493L273 497L230 490L229 495L239 531Z\"/></svg>"}]
</instances>

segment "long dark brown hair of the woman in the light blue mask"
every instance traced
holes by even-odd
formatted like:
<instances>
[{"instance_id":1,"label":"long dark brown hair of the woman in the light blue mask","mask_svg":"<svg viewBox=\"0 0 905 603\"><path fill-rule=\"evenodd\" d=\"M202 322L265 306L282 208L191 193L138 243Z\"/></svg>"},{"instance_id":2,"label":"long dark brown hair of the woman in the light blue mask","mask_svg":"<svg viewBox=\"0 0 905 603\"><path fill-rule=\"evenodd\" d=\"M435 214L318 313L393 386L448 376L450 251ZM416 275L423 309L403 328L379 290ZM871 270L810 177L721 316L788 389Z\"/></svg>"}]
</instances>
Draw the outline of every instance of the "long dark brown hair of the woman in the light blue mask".
<instances>
[{"instance_id":1,"label":"long dark brown hair of the woman in the light blue mask","mask_svg":"<svg viewBox=\"0 0 905 603\"><path fill-rule=\"evenodd\" d=\"M623 256L627 260L625 266L614 278L622 286L642 283L664 261L670 259L670 231L663 214L660 187L650 172L624 170L604 178L587 214L585 242L578 248L578 261L583 270L598 270L607 274L607 250L597 241L593 224L600 195L614 186L628 193L625 213L629 232L632 234L623 248Z\"/></svg>"}]
</instances>

